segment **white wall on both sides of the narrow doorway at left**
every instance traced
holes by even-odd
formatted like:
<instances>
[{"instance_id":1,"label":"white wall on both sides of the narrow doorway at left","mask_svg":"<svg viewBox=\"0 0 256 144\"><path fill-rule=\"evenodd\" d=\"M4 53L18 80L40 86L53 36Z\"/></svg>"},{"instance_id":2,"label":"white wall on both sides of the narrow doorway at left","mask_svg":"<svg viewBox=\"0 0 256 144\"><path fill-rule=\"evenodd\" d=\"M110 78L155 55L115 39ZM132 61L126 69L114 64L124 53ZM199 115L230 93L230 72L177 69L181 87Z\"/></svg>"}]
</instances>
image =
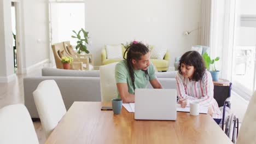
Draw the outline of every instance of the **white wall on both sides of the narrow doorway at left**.
<instances>
[{"instance_id":1,"label":"white wall on both sides of the narrow doorway at left","mask_svg":"<svg viewBox=\"0 0 256 144\"><path fill-rule=\"evenodd\" d=\"M24 73L49 58L49 19L47 0L19 1L20 62ZM14 77L11 1L0 2L0 82Z\"/></svg>"}]
</instances>

